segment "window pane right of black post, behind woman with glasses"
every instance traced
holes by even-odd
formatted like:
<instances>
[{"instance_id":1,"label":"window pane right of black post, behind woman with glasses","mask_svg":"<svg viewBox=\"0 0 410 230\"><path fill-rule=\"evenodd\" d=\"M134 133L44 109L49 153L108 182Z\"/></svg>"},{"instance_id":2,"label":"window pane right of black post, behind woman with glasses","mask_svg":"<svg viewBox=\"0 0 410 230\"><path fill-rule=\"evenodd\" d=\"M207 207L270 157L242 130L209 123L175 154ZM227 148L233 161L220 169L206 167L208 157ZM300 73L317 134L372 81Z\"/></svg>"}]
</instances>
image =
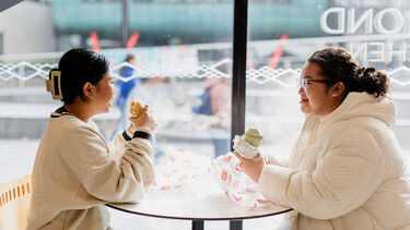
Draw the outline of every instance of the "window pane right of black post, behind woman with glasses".
<instances>
[{"instance_id":1,"label":"window pane right of black post, behind woman with glasses","mask_svg":"<svg viewBox=\"0 0 410 230\"><path fill-rule=\"evenodd\" d=\"M397 106L394 131L407 155L408 1L249 1L246 128L265 134L262 150L288 155L304 120L295 78L307 58L344 47L361 65L384 70Z\"/></svg>"}]
</instances>

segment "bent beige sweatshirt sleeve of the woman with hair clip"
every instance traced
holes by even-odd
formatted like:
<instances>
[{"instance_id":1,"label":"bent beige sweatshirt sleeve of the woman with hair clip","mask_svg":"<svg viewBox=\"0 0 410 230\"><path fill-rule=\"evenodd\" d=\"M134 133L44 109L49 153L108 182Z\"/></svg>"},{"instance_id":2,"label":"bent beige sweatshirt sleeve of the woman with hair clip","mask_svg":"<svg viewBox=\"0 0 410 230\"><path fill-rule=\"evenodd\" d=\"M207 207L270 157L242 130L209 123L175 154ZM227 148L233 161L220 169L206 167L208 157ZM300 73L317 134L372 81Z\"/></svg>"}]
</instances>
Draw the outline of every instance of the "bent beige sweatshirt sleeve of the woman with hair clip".
<instances>
[{"instance_id":1,"label":"bent beige sweatshirt sleeve of the woman with hair clip","mask_svg":"<svg viewBox=\"0 0 410 230\"><path fill-rule=\"evenodd\" d=\"M94 130L77 126L67 135L69 149L61 156L91 195L113 203L141 201L155 178L153 152L148 140L110 143L110 149L124 149L116 160Z\"/></svg>"}]
</instances>

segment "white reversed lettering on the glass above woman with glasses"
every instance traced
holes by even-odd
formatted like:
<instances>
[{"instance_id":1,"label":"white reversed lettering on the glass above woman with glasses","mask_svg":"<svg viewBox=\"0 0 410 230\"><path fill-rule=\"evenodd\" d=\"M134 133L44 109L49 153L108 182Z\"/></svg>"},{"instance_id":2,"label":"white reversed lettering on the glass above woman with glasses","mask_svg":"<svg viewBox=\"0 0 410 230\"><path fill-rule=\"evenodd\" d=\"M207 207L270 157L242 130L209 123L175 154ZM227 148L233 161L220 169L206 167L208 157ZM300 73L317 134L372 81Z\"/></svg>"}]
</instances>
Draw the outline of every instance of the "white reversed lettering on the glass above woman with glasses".
<instances>
[{"instance_id":1,"label":"white reversed lettering on the glass above woman with glasses","mask_svg":"<svg viewBox=\"0 0 410 230\"><path fill-rule=\"evenodd\" d=\"M335 20L330 20L329 16ZM320 26L328 34L410 34L410 10L399 11L387 8L376 11L370 8L361 9L358 13L354 8L349 10L331 8L321 14ZM389 37L386 38L387 40L380 38L380 40L373 41L348 43L347 49L363 63L384 62L387 64L397 60L399 64L403 64L410 60L409 38Z\"/></svg>"}]
</instances>

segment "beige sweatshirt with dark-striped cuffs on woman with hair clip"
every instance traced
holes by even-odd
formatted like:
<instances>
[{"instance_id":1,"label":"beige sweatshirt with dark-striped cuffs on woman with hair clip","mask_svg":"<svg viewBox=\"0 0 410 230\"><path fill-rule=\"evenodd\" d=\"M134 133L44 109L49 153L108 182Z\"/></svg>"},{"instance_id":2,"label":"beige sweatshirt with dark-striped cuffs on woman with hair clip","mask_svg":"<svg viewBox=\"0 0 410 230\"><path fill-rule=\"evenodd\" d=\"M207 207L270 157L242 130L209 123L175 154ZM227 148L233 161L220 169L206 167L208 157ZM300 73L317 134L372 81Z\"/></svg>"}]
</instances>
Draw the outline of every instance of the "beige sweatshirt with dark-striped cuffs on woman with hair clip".
<instances>
[{"instance_id":1,"label":"beige sweatshirt with dark-striped cuffs on woman with hair clip","mask_svg":"<svg viewBox=\"0 0 410 230\"><path fill-rule=\"evenodd\" d=\"M32 177L26 230L109 229L103 204L138 203L154 181L151 143L118 133L107 144L94 122L52 113Z\"/></svg>"}]
</instances>

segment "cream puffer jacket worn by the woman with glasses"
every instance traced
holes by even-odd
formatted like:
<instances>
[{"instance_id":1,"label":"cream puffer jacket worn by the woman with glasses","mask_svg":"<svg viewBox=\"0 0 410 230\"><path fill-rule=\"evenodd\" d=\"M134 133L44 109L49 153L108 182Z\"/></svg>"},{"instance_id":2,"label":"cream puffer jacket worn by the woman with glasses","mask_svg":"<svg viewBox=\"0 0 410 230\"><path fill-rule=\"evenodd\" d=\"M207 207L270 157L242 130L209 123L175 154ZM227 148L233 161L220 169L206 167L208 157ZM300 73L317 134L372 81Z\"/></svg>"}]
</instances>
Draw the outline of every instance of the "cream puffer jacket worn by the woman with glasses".
<instances>
[{"instance_id":1,"label":"cream puffer jacket worn by the woman with glasses","mask_svg":"<svg viewBox=\"0 0 410 230\"><path fill-rule=\"evenodd\" d=\"M308 116L288 162L267 157L259 186L298 215L292 229L410 229L410 174L391 131L388 97L350 93Z\"/></svg>"}]
</instances>

